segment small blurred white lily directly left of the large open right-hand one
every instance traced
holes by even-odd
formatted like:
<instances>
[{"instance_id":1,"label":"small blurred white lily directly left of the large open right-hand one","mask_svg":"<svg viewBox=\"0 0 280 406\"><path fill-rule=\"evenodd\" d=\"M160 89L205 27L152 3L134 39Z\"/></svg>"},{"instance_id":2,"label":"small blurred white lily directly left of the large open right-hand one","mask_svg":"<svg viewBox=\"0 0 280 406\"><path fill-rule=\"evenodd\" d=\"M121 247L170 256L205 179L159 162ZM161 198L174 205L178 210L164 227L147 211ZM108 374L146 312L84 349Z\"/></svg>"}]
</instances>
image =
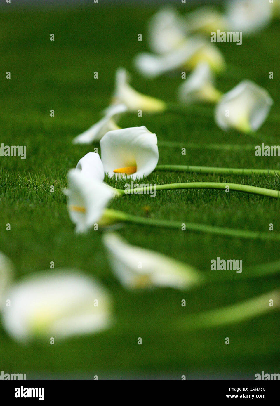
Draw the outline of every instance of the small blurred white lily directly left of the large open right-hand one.
<instances>
[{"instance_id":1,"label":"small blurred white lily directly left of the large open right-hand one","mask_svg":"<svg viewBox=\"0 0 280 406\"><path fill-rule=\"evenodd\" d=\"M207 63L200 63L178 88L183 103L217 102L222 96L214 86L214 77Z\"/></svg>"}]
</instances>

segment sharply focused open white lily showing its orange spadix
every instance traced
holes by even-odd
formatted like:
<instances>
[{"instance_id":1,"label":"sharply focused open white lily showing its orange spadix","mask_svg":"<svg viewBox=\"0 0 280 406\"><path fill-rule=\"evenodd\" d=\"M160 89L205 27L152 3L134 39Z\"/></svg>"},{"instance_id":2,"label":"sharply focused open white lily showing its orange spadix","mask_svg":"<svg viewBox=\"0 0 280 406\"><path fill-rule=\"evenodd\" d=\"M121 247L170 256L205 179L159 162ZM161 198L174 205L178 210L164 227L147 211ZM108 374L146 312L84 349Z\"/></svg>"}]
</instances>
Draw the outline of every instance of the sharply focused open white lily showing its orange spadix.
<instances>
[{"instance_id":1,"label":"sharply focused open white lily showing its orange spadix","mask_svg":"<svg viewBox=\"0 0 280 406\"><path fill-rule=\"evenodd\" d=\"M109 131L100 141L104 172L132 179L150 175L157 166L157 136L146 127Z\"/></svg>"}]
</instances>

